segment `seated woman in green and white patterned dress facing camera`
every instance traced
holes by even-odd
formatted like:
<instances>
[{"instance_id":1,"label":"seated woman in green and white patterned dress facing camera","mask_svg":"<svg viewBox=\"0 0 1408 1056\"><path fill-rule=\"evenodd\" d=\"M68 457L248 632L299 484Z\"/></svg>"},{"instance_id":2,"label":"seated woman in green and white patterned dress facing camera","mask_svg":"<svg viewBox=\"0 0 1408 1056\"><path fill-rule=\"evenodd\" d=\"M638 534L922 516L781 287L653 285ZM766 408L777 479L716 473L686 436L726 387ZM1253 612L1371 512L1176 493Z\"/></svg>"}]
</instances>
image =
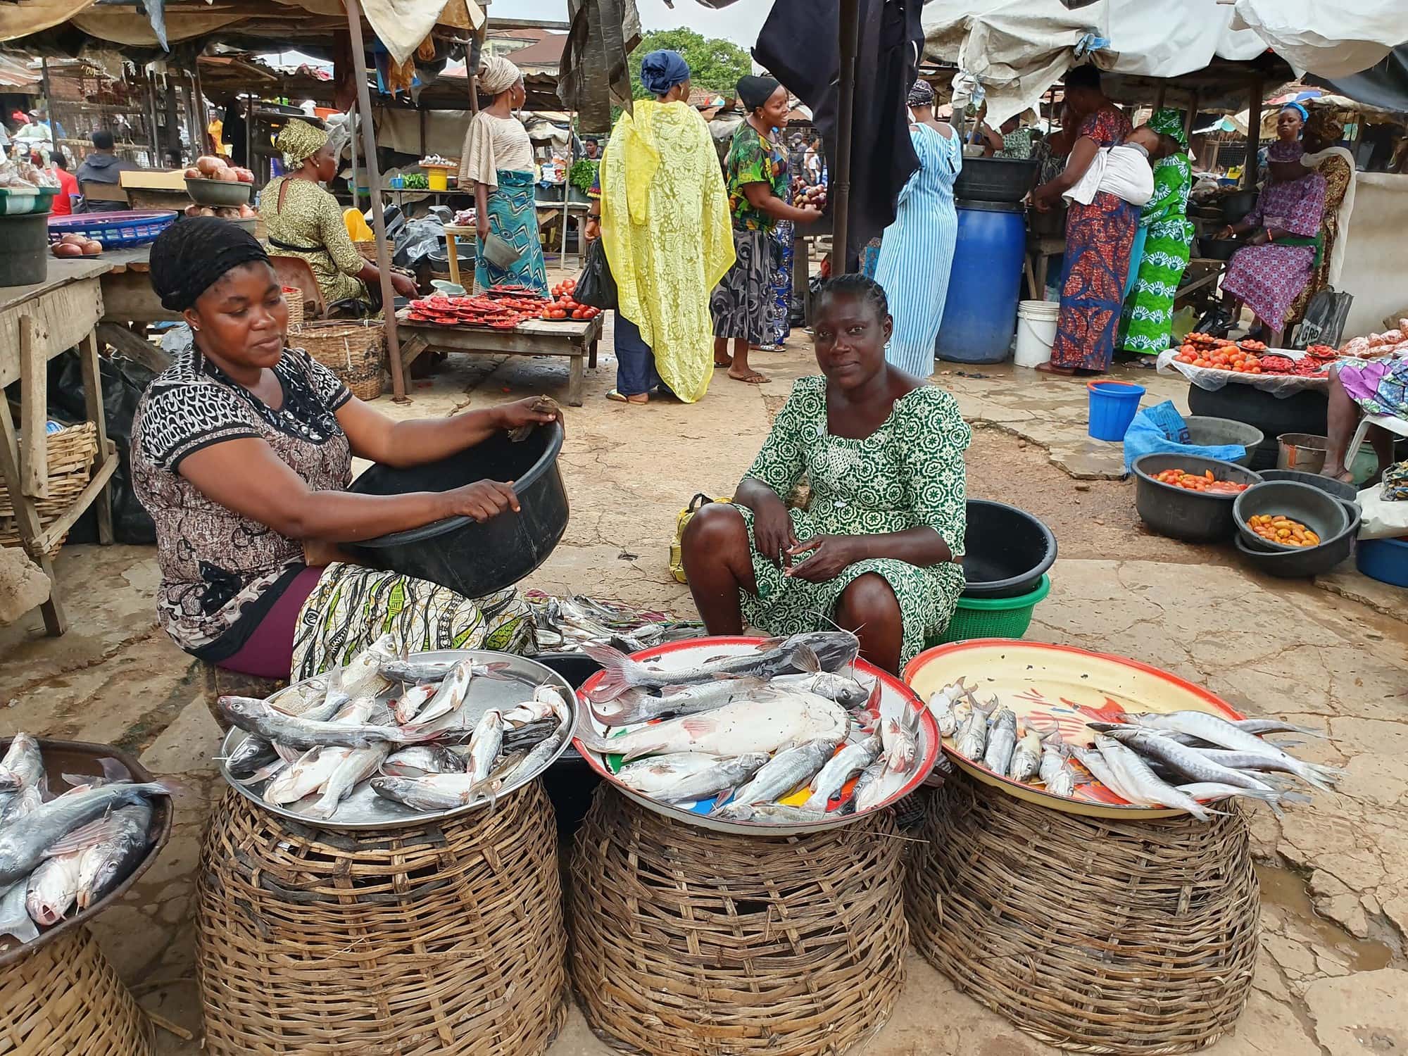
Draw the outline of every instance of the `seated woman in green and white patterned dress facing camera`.
<instances>
[{"instance_id":1,"label":"seated woman in green and white patterned dress facing camera","mask_svg":"<svg viewBox=\"0 0 1408 1056\"><path fill-rule=\"evenodd\" d=\"M690 520L684 570L712 635L834 621L898 672L963 591L972 434L949 393L886 362L893 324L877 283L832 279L812 310L822 376L793 386L732 504ZM788 508L804 474L807 508Z\"/></svg>"}]
</instances>

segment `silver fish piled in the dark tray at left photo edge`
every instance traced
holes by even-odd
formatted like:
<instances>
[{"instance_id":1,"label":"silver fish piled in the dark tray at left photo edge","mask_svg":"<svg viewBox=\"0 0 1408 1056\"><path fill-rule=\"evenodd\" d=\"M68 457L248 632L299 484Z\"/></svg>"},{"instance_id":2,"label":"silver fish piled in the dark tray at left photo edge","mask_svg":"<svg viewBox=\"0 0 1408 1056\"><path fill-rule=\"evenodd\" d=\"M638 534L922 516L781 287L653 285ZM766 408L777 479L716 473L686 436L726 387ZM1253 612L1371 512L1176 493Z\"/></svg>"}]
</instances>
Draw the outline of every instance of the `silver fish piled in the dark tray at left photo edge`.
<instances>
[{"instance_id":1,"label":"silver fish piled in the dark tray at left photo edge","mask_svg":"<svg viewBox=\"0 0 1408 1056\"><path fill-rule=\"evenodd\" d=\"M52 928L127 880L146 853L151 800L168 794L111 774L63 780L68 791L52 794L39 742L14 735L0 760L0 949L4 936L31 942L35 925Z\"/></svg>"}]
</instances>

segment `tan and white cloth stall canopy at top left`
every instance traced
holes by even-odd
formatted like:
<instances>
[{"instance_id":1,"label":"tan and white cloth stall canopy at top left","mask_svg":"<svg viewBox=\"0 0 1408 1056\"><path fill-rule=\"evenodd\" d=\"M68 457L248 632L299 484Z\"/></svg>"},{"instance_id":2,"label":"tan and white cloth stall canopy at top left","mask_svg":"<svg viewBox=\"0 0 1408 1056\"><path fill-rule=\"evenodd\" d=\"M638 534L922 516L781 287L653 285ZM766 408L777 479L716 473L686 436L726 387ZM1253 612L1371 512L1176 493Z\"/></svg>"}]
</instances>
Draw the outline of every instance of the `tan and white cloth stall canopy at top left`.
<instances>
[{"instance_id":1,"label":"tan and white cloth stall canopy at top left","mask_svg":"<svg viewBox=\"0 0 1408 1056\"><path fill-rule=\"evenodd\" d=\"M476 0L363 0L362 10L372 31L398 63L406 62L436 25L467 34L484 24ZM145 11L137 0L6 0L0 42L24 41L62 27L69 39L73 32L80 35L80 49L169 49L180 41L214 37L253 51L260 42L286 48L290 42L346 25L342 0L248 0L238 4L182 0L165 6L153 0Z\"/></svg>"}]
</instances>

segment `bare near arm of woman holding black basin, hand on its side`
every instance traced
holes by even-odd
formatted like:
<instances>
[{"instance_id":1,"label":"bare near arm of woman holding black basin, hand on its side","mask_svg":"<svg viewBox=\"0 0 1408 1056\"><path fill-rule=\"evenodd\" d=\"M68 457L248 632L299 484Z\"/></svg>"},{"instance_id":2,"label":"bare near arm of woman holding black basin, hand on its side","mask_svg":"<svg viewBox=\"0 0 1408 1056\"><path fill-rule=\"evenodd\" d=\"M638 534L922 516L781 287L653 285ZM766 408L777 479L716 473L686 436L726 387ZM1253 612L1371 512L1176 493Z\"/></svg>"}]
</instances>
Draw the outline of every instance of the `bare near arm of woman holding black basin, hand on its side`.
<instances>
[{"instance_id":1,"label":"bare near arm of woman holding black basin, hand on its side","mask_svg":"<svg viewBox=\"0 0 1408 1056\"><path fill-rule=\"evenodd\" d=\"M187 455L177 470L213 503L290 539L356 542L445 517L487 521L518 510L508 483L480 480L452 491L362 496L314 491L265 441L241 438Z\"/></svg>"}]
</instances>

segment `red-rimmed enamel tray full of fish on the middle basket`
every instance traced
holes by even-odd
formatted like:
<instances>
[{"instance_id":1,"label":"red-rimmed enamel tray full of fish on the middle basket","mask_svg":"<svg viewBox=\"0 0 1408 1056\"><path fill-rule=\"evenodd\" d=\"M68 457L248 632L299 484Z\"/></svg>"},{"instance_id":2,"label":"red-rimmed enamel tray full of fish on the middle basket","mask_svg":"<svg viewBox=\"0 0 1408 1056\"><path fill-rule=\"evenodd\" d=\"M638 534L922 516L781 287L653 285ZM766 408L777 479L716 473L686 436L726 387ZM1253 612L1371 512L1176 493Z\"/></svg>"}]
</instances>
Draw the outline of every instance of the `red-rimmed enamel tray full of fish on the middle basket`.
<instances>
[{"instance_id":1,"label":"red-rimmed enamel tray full of fish on the middle basket","mask_svg":"<svg viewBox=\"0 0 1408 1056\"><path fill-rule=\"evenodd\" d=\"M765 643L762 638L690 638L680 642L669 642L656 649L646 649L643 652L634 653L632 660L638 660L648 667L655 667L658 670L684 670L687 667L696 667L700 663L717 659L721 656L742 656L749 652L756 652L760 645ZM905 686L900 679L880 670L874 665L866 663L865 660L856 660L849 667L841 669L842 674L850 674L860 680L866 687L872 686L874 680L880 681L880 712L886 714L890 708L910 708L917 712L918 724L915 739L918 741L918 755L914 760L914 769L910 772L908 780L900 787L897 793L890 796L887 800L881 801L876 807L872 807L865 814L883 810L894 803L898 803L905 796L912 793L925 777L934 770L934 762L939 756L939 728L934 722L934 715L929 710L924 707L924 703L914 696L908 686ZM598 735L610 735L612 732L611 727L601 724L593 714L589 705L589 694L601 683L603 673L597 672L577 690L579 698L579 714L580 721ZM636 729L639 725L635 724L629 727L622 727L624 729ZM852 724L852 735L855 736L855 724ZM725 818L710 817L708 811L714 805L714 800L704 800L694 804L693 808L677 807L670 803L662 803L659 800L652 800L649 796L642 796L634 788L625 787L617 780L615 769L610 765L610 760L598 755L597 752L586 748L582 741L573 738L573 748L587 760L587 766L596 770L601 777L611 784L614 784L622 796L642 807L655 811L656 814L663 814L676 821L684 821L690 825L698 825L701 828L714 829L715 832L738 832L752 836L790 836L800 832L819 832L821 829L838 828L839 825L848 825L852 821L863 817L862 814L841 814L841 807L849 800L852 788L856 779L850 779L846 784L841 803L835 808L826 811L826 817L819 818L812 822L794 822L794 824L766 824L753 821L728 821ZM800 793L791 793L784 796L781 803L794 803L798 800Z\"/></svg>"}]
</instances>

